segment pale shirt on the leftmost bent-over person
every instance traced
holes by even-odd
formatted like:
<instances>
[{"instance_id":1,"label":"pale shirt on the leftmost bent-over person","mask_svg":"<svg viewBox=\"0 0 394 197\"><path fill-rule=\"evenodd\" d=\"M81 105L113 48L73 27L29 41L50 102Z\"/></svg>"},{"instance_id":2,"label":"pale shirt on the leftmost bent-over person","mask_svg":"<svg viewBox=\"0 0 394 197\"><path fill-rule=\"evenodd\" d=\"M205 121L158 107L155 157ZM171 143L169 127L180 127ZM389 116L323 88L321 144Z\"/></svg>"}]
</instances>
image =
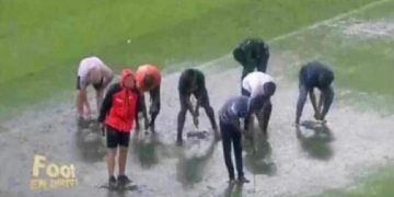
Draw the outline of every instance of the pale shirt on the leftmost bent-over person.
<instances>
[{"instance_id":1,"label":"pale shirt on the leftmost bent-over person","mask_svg":"<svg viewBox=\"0 0 394 197\"><path fill-rule=\"evenodd\" d=\"M80 86L81 89L86 89L89 84L92 82L90 81L90 72L95 69L100 68L103 71L104 81L103 84L108 84L113 79L113 71L97 57L86 57L81 60L79 68L78 68L78 77L80 78Z\"/></svg>"}]
</instances>

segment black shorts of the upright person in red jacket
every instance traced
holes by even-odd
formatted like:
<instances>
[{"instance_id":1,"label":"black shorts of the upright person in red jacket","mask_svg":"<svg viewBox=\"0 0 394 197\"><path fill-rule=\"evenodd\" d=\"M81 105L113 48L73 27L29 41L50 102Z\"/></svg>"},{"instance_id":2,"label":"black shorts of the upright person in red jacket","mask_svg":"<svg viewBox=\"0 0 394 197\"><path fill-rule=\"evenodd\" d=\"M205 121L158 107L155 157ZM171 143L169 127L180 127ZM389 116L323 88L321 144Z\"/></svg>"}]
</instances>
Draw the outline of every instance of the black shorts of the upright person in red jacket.
<instances>
[{"instance_id":1,"label":"black shorts of the upright person in red jacket","mask_svg":"<svg viewBox=\"0 0 394 197\"><path fill-rule=\"evenodd\" d=\"M130 141L130 132L118 131L109 126L106 127L106 141L108 149L119 147L128 147Z\"/></svg>"}]
</instances>

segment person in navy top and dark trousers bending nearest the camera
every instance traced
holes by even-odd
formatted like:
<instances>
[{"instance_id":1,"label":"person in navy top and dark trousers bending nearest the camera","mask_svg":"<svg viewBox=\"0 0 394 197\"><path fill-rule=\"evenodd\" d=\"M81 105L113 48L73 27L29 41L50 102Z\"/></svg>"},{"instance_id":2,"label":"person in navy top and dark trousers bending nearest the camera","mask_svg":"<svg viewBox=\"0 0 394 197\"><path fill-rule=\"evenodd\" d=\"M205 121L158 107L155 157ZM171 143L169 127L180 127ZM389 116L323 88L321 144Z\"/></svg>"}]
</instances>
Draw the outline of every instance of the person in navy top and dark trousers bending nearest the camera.
<instances>
[{"instance_id":1,"label":"person in navy top and dark trousers bending nearest the camera","mask_svg":"<svg viewBox=\"0 0 394 197\"><path fill-rule=\"evenodd\" d=\"M222 137L224 163L229 173L230 183L235 181L234 166L231 159L231 148L233 147L237 181L248 183L243 172L242 159L242 134L245 130L241 127L241 119L251 115L253 109L250 106L250 97L234 96L229 99L219 111L219 127Z\"/></svg>"}]
</instances>

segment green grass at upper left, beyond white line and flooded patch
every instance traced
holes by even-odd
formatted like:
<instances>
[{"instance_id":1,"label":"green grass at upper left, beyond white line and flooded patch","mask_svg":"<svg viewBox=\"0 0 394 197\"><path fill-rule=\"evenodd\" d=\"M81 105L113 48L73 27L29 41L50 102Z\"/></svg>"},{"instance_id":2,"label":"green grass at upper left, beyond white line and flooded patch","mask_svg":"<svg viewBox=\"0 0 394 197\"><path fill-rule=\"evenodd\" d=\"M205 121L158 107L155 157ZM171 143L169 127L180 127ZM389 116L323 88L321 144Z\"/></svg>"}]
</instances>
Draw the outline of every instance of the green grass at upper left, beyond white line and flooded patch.
<instances>
[{"instance_id":1,"label":"green grass at upper left, beyond white line and flooded patch","mask_svg":"<svg viewBox=\"0 0 394 197\"><path fill-rule=\"evenodd\" d=\"M143 62L195 66L246 36L268 39L371 1L2 0L0 116L73 90L77 65L88 55L116 71Z\"/></svg>"}]
</instances>

